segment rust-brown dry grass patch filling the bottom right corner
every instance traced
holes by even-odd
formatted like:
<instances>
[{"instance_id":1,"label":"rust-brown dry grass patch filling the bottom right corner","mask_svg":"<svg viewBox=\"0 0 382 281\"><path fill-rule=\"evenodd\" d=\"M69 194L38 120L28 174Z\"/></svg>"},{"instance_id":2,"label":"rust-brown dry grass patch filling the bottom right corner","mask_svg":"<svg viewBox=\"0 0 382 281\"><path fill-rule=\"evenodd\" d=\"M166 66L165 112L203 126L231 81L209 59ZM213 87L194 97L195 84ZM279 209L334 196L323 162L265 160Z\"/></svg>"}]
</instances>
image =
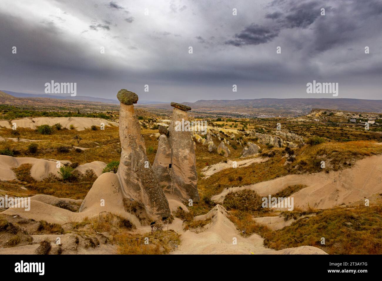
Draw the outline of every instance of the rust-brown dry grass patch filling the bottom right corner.
<instances>
[{"instance_id":1,"label":"rust-brown dry grass patch filling the bottom right corner","mask_svg":"<svg viewBox=\"0 0 382 281\"><path fill-rule=\"evenodd\" d=\"M323 210L263 237L276 250L310 245L328 254L382 254L382 206Z\"/></svg>"}]
</instances>

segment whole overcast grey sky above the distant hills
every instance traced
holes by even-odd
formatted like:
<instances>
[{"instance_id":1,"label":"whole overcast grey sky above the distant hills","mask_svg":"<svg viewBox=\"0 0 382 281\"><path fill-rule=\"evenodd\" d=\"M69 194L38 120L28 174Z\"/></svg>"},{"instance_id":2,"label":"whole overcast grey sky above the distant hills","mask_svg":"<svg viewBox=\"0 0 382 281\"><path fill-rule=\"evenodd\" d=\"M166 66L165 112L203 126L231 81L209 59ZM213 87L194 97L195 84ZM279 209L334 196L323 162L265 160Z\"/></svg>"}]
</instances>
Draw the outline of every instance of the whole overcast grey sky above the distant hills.
<instances>
[{"instance_id":1,"label":"whole overcast grey sky above the distant hills","mask_svg":"<svg viewBox=\"0 0 382 281\"><path fill-rule=\"evenodd\" d=\"M0 89L14 92L54 80L166 102L332 97L306 93L316 80L381 99L381 47L381 0L0 1Z\"/></svg>"}]
</instances>

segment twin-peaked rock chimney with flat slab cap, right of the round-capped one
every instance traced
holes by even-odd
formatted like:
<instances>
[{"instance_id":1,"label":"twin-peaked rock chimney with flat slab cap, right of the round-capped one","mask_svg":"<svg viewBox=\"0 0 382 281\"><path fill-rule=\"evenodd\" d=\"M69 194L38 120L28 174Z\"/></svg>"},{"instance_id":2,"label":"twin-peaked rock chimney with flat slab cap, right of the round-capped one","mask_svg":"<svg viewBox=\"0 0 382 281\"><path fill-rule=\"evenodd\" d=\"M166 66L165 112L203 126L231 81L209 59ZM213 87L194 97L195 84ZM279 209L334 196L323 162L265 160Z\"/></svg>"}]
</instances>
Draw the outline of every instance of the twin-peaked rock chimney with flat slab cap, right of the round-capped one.
<instances>
[{"instance_id":1,"label":"twin-peaked rock chimney with flat slab cap, right of the round-capped one","mask_svg":"<svg viewBox=\"0 0 382 281\"><path fill-rule=\"evenodd\" d=\"M159 179L168 199L188 202L199 201L197 192L197 173L194 142L189 131L176 131L176 121L188 121L183 105L176 104L172 113L172 122L168 126L168 136L159 138L158 150L153 164L154 173ZM186 107L186 106L185 106ZM191 109L191 108L190 108ZM188 109L188 110L190 110ZM197 142L206 142L194 134Z\"/></svg>"}]
</instances>

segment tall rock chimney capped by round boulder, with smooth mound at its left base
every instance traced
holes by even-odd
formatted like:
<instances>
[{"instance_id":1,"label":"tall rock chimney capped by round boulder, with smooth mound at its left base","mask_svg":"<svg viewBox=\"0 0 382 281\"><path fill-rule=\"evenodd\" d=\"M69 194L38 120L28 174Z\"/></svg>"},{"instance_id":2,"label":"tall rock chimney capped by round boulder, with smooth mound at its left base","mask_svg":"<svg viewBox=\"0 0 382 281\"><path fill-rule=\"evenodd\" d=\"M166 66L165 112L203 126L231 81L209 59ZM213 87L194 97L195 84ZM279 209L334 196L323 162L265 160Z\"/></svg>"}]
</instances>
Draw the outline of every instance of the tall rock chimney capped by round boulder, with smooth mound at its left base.
<instances>
[{"instance_id":1,"label":"tall rock chimney capped by round boulder, with smooth mound at its left base","mask_svg":"<svg viewBox=\"0 0 382 281\"><path fill-rule=\"evenodd\" d=\"M113 199L114 202L106 202L105 199L105 206L110 208L110 204L113 204L115 208L115 205L123 202L121 208L124 208L126 212L131 209L131 215L138 218L141 223L147 224L170 216L170 208L149 165L141 126L134 116L133 103L138 101L138 96L122 89L117 97L121 102L119 117L121 158L117 174L115 174L116 178L113 179L112 184L108 178L110 173L100 176L85 197L80 212L86 211L88 207L99 205L100 199L110 197L109 194L120 194L118 196L122 198ZM102 197L99 198L100 196ZM117 195L112 196L114 198Z\"/></svg>"}]
</instances>

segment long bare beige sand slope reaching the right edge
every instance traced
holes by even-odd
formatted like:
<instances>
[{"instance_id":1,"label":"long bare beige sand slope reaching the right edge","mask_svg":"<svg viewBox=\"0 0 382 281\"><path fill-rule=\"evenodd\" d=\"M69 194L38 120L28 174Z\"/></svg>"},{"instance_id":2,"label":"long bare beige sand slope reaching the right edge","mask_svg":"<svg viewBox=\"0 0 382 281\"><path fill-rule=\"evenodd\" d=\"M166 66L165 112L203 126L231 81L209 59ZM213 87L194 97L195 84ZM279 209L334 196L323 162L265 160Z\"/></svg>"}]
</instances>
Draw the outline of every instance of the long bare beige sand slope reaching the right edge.
<instances>
[{"instance_id":1,"label":"long bare beige sand slope reaching the right edge","mask_svg":"<svg viewBox=\"0 0 382 281\"><path fill-rule=\"evenodd\" d=\"M309 204L312 208L327 209L364 200L372 194L382 192L381 175L382 155L374 155L359 160L352 168L342 171L292 174L248 186L225 189L213 196L212 200L221 203L229 192L243 189L251 189L261 196L268 197L269 194L276 194L288 186L304 184L308 187L291 195L294 198L294 207L307 210Z\"/></svg>"}]
</instances>

